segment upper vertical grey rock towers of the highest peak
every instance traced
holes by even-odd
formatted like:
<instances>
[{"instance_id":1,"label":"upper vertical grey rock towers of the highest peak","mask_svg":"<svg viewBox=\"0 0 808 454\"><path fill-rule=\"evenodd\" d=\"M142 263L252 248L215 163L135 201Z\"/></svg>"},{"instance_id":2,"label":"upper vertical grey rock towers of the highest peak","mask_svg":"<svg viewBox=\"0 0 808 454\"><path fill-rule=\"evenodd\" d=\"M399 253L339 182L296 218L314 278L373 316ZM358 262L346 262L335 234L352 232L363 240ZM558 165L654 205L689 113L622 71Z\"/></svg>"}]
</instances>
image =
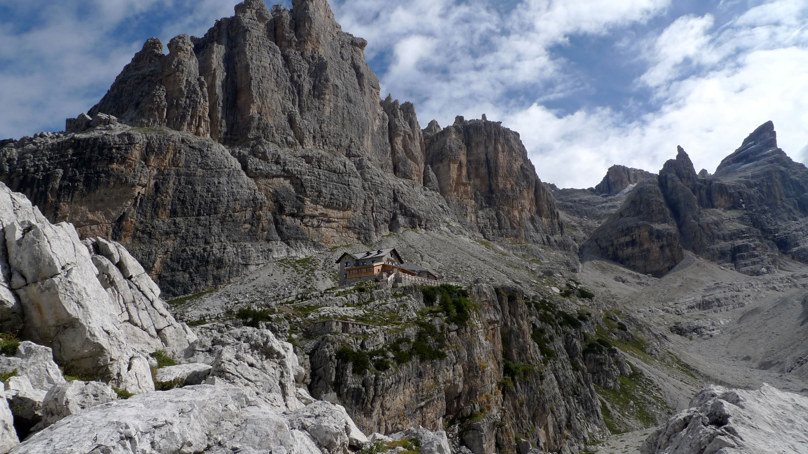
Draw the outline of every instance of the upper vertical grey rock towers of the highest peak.
<instances>
[{"instance_id":1,"label":"upper vertical grey rock towers of the highest peak","mask_svg":"<svg viewBox=\"0 0 808 454\"><path fill-rule=\"evenodd\" d=\"M392 170L367 41L342 32L326 0L294 6L247 0L204 37L171 40L167 56L148 40L90 115L227 145L328 149Z\"/></svg>"}]
</instances>

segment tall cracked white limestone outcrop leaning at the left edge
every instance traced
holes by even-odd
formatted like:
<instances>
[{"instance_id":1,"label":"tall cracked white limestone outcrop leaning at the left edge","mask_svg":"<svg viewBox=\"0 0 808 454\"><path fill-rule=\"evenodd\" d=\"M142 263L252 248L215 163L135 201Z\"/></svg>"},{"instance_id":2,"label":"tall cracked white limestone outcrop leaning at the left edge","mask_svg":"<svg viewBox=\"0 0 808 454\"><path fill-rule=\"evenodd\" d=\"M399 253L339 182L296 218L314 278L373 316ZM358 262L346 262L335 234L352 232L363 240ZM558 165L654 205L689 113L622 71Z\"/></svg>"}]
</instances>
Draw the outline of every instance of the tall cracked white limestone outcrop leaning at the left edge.
<instances>
[{"instance_id":1,"label":"tall cracked white limestone outcrop leaning at the left edge","mask_svg":"<svg viewBox=\"0 0 808 454\"><path fill-rule=\"evenodd\" d=\"M154 390L149 353L179 355L196 339L123 246L82 244L73 225L50 224L2 184L0 230L0 328L22 328L23 338L51 347L75 372L133 393Z\"/></svg>"}]
</instances>

